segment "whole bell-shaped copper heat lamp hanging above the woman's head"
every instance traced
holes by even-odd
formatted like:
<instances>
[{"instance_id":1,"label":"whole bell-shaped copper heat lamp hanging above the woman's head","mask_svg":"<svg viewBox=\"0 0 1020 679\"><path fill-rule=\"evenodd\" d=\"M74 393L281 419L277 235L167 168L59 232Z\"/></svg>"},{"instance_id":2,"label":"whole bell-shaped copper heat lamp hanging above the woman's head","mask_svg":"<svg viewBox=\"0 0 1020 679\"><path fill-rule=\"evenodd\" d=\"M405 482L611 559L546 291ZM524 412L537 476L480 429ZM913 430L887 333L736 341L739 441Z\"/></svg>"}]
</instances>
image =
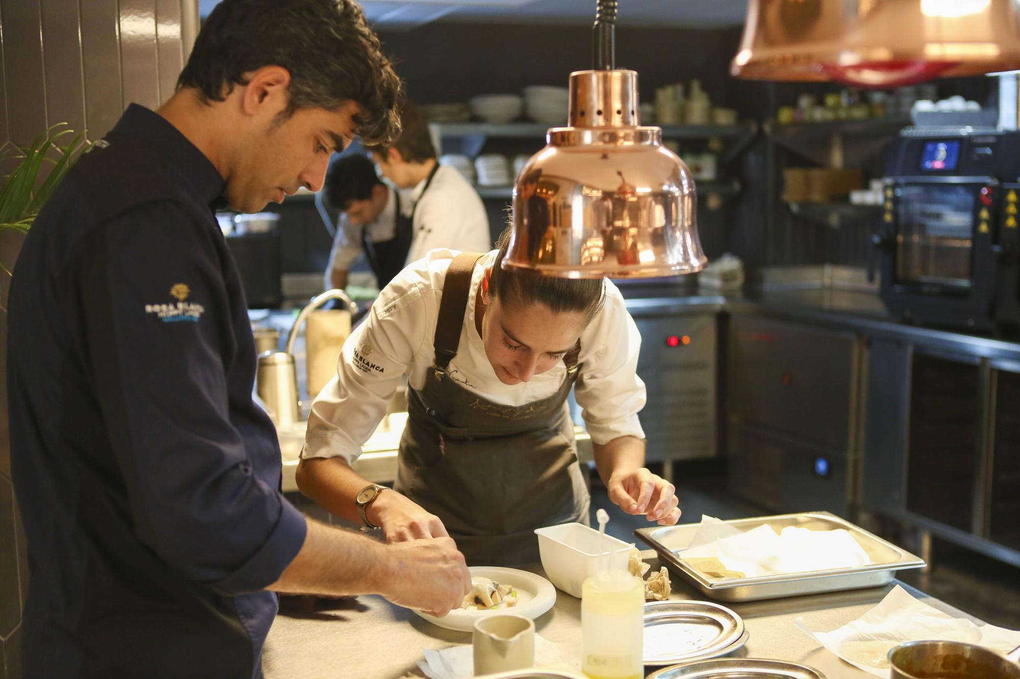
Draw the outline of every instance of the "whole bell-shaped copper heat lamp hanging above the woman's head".
<instances>
[{"instance_id":1,"label":"whole bell-shaped copper heat lamp hanging above the woman's head","mask_svg":"<svg viewBox=\"0 0 1020 679\"><path fill-rule=\"evenodd\" d=\"M600 0L600 15L615 2ZM565 278L639 278L704 268L695 182L640 126L638 73L615 69L612 33L596 21L596 62L570 74L569 126L553 127L513 189L504 269Z\"/></svg>"}]
</instances>

